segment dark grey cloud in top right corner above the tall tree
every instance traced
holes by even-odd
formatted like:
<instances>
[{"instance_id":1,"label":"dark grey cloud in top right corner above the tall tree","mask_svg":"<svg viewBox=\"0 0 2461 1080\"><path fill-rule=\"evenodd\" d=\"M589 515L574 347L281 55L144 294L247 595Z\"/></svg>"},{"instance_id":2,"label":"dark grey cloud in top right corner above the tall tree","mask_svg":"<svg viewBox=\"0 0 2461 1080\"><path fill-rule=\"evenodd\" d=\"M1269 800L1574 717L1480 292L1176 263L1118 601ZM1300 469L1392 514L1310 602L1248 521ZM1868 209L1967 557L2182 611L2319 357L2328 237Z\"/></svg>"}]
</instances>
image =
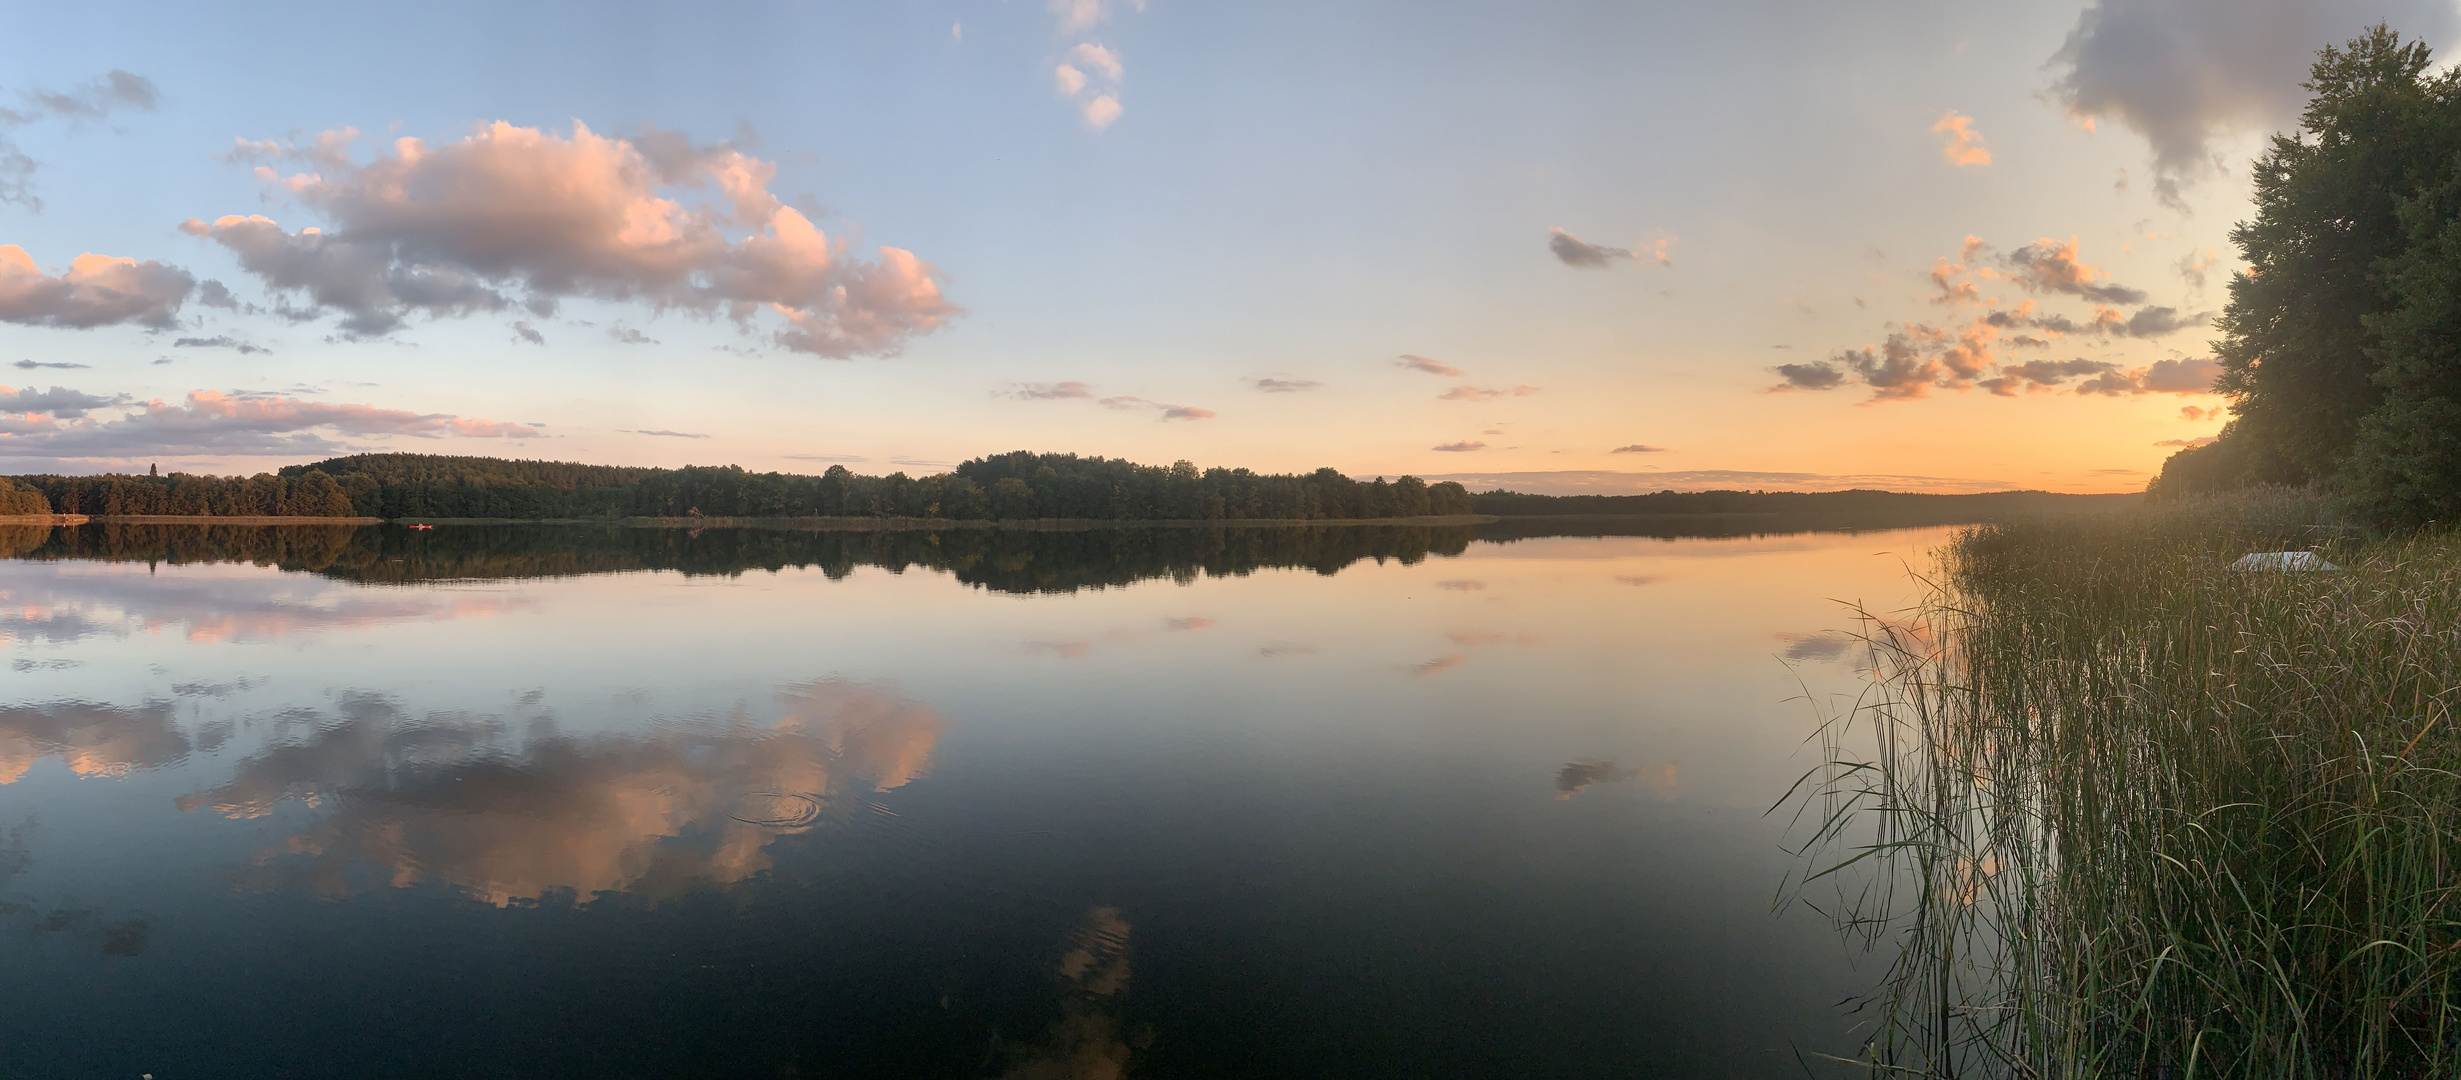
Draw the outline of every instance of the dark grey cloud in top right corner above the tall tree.
<instances>
[{"instance_id":1,"label":"dark grey cloud in top right corner above the tall tree","mask_svg":"<svg viewBox=\"0 0 2461 1080\"><path fill-rule=\"evenodd\" d=\"M2052 96L2080 123L2116 121L2153 148L2156 194L2217 172L2212 140L2284 128L2316 49L2390 22L2449 42L2449 0L2097 0L2052 54Z\"/></svg>"}]
</instances>

